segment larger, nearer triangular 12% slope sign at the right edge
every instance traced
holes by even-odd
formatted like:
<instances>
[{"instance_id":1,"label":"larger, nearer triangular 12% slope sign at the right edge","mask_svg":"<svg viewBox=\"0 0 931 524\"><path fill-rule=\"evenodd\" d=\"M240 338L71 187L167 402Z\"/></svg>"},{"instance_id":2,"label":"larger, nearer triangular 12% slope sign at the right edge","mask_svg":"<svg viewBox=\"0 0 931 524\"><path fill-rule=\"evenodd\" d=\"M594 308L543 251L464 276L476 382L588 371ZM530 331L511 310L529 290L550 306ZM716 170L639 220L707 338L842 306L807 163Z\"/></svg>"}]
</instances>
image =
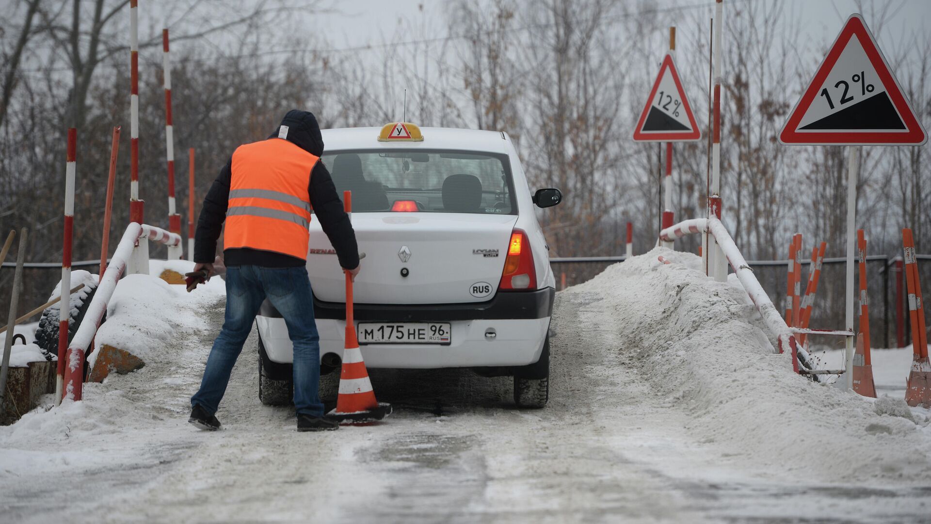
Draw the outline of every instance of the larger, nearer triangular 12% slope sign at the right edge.
<instances>
[{"instance_id":1,"label":"larger, nearer triangular 12% slope sign at the right edge","mask_svg":"<svg viewBox=\"0 0 931 524\"><path fill-rule=\"evenodd\" d=\"M779 133L801 145L921 145L921 122L863 18L847 19Z\"/></svg>"}]
</instances>

